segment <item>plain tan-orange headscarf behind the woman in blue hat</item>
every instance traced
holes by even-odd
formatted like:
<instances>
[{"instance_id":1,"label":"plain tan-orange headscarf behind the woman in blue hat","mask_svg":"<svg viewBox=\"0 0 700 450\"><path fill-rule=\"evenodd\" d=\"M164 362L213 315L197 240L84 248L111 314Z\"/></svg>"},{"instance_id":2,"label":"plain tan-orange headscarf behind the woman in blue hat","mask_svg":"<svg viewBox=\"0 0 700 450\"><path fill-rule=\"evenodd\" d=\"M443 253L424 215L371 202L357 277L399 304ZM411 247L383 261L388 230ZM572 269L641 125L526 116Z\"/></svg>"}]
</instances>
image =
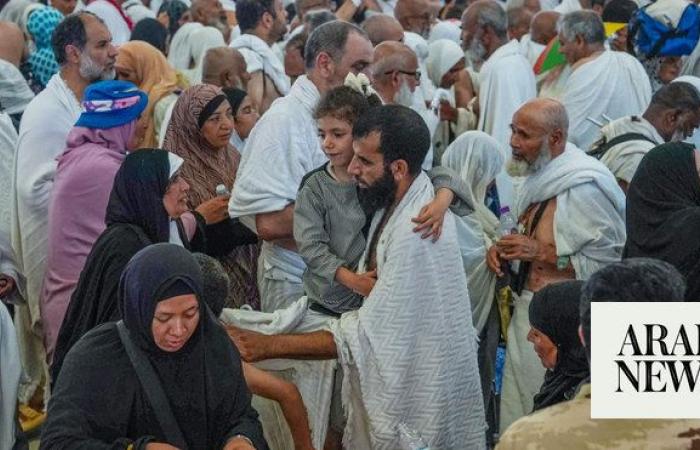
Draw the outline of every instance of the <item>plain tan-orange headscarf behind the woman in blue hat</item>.
<instances>
[{"instance_id":1,"label":"plain tan-orange headscarf behind the woman in blue hat","mask_svg":"<svg viewBox=\"0 0 700 450\"><path fill-rule=\"evenodd\" d=\"M163 97L186 87L183 80L178 80L177 73L168 64L165 56L151 44L143 41L126 42L119 47L116 65L134 72L139 89L148 94L148 106L141 115L146 125L142 147L157 147L153 110Z\"/></svg>"}]
</instances>

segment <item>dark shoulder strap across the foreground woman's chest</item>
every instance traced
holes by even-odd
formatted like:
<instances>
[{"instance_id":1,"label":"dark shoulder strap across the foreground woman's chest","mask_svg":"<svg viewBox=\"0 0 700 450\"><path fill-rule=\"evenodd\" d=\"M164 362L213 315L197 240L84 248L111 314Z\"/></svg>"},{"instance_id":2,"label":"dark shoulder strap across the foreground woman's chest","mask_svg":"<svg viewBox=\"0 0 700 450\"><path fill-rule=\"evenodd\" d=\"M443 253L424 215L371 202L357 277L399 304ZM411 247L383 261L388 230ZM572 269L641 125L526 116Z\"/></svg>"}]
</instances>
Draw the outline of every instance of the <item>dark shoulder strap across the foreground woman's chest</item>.
<instances>
[{"instance_id":1,"label":"dark shoulder strap across the foreground woman's chest","mask_svg":"<svg viewBox=\"0 0 700 450\"><path fill-rule=\"evenodd\" d=\"M163 433L165 433L171 445L182 450L187 450L187 442L182 436L180 426L173 415L168 398L165 396L163 386L161 386L160 380L153 370L153 366L151 366L146 355L134 345L134 341L129 337L129 330L126 329L123 320L117 322L117 330L119 331L119 338L124 345L126 354L129 355L131 365L136 371L141 387L146 393L146 397L148 397L148 402L153 408L153 412L156 415L156 419L158 419Z\"/></svg>"}]
</instances>

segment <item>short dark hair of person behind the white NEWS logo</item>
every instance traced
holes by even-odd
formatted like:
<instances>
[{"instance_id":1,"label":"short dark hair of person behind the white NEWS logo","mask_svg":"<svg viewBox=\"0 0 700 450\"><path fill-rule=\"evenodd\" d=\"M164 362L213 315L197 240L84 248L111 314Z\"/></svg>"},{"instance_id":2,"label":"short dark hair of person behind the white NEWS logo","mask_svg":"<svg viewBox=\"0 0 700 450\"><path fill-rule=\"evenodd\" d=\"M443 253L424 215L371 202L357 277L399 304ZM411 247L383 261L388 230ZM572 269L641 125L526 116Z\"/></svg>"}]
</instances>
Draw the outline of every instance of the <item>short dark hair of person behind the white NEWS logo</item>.
<instances>
[{"instance_id":1,"label":"short dark hair of person behind the white NEWS logo","mask_svg":"<svg viewBox=\"0 0 700 450\"><path fill-rule=\"evenodd\" d=\"M686 283L671 264L654 258L629 258L609 264L581 289L581 328L591 351L591 302L682 302Z\"/></svg>"}]
</instances>

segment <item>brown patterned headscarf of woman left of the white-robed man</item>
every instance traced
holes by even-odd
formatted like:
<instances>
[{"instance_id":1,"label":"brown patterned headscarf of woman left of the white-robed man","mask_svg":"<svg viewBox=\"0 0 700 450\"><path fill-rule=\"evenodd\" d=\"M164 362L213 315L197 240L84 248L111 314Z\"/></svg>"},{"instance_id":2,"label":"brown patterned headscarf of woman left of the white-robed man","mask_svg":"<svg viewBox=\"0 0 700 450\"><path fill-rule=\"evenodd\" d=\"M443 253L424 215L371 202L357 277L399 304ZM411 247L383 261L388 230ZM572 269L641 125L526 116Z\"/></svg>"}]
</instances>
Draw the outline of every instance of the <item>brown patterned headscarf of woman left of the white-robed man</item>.
<instances>
[{"instance_id":1,"label":"brown patterned headscarf of woman left of the white-robed man","mask_svg":"<svg viewBox=\"0 0 700 450\"><path fill-rule=\"evenodd\" d=\"M223 149L213 148L202 135L200 116L207 105L219 96L224 96L221 88L209 84L187 89L175 103L165 133L163 148L185 160L180 173L190 185L192 209L214 198L217 185L232 188L241 158L230 145Z\"/></svg>"}]
</instances>

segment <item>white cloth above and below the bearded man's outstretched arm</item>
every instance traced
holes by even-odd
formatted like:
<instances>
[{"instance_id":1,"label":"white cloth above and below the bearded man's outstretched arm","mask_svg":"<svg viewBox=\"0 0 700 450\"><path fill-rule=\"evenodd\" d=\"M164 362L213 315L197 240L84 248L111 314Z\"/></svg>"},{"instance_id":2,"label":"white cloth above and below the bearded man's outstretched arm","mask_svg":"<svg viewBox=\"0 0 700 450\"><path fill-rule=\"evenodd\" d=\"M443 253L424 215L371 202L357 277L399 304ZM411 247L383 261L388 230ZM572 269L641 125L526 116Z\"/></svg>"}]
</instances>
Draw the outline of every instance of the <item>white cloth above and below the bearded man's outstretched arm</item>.
<instances>
[{"instance_id":1,"label":"white cloth above and below the bearded man's outstretched arm","mask_svg":"<svg viewBox=\"0 0 700 450\"><path fill-rule=\"evenodd\" d=\"M301 297L287 308L278 309L273 313L243 308L224 308L219 318L227 325L264 334L318 331L325 328L328 321L335 320L309 310L306 297ZM314 448L323 448L328 430L337 362L333 359L322 361L274 359L255 365L297 385L308 414L311 441ZM253 403L260 414L260 423L270 448L294 450L294 440L276 402L254 396Z\"/></svg>"}]
</instances>

